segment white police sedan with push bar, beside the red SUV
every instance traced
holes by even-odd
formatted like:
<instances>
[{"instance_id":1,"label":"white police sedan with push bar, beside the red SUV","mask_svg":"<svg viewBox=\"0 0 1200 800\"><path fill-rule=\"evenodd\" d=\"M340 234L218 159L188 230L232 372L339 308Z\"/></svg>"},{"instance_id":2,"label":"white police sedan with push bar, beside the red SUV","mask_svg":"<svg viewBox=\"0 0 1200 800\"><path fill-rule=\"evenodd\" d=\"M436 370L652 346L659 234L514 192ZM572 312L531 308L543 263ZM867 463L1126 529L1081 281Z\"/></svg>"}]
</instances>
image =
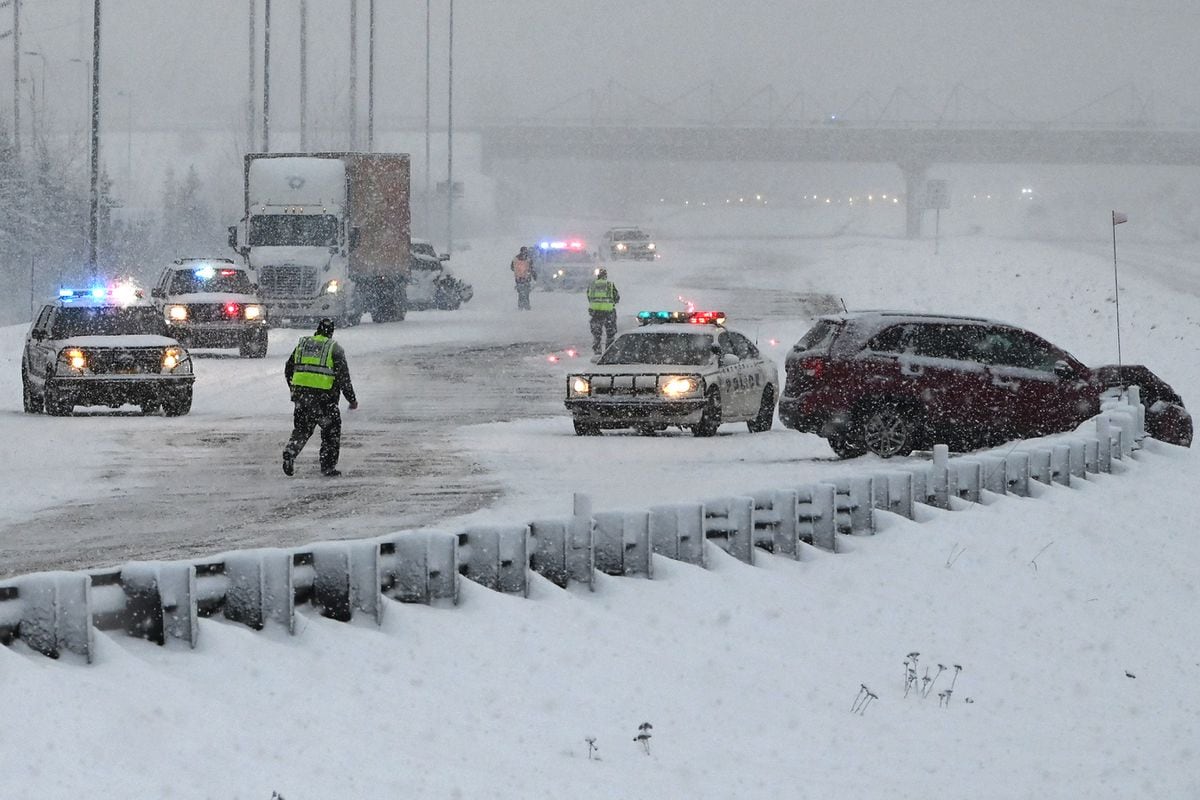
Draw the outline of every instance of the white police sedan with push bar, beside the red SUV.
<instances>
[{"instance_id":1,"label":"white police sedan with push bar, beside the red SUV","mask_svg":"<svg viewBox=\"0 0 1200 800\"><path fill-rule=\"evenodd\" d=\"M686 428L712 437L725 422L769 431L779 369L715 311L642 311L588 372L566 378L575 433Z\"/></svg>"}]
</instances>

